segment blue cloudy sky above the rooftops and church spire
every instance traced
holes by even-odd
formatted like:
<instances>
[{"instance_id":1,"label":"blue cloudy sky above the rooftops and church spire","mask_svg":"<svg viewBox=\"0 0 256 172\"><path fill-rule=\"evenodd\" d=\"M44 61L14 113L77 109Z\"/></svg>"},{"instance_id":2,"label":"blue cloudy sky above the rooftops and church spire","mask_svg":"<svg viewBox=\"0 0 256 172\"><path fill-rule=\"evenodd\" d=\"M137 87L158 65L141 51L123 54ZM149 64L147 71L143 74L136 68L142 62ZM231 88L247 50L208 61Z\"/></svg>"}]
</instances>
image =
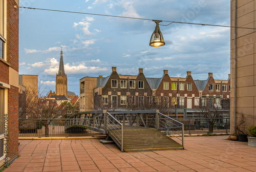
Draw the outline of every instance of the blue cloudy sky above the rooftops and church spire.
<instances>
[{"instance_id":1,"label":"blue cloudy sky above the rooftops and church spire","mask_svg":"<svg viewBox=\"0 0 256 172\"><path fill-rule=\"evenodd\" d=\"M230 25L230 1L216 0L20 0L19 6L177 22ZM150 47L151 20L19 9L19 74L38 75L55 91L60 46L68 90L79 94L79 79L119 74L227 79L230 73L230 29L170 24L160 26L165 46ZM169 23L162 22L162 25Z\"/></svg>"}]
</instances>

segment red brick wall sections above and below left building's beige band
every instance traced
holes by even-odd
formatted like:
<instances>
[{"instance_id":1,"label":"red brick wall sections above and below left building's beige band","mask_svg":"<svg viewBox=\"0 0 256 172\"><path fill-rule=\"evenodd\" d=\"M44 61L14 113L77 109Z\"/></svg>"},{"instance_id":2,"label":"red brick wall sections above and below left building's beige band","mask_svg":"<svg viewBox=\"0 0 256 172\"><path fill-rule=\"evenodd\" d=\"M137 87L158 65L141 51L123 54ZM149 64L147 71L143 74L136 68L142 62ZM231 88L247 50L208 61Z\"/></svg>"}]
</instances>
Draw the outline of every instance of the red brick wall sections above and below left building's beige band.
<instances>
[{"instance_id":1,"label":"red brick wall sections above and below left building's beige band","mask_svg":"<svg viewBox=\"0 0 256 172\"><path fill-rule=\"evenodd\" d=\"M7 1L7 61L18 72L18 21L19 10L14 0ZM9 76L8 76L9 77ZM8 89L8 156L18 155L18 88Z\"/></svg>"}]
</instances>

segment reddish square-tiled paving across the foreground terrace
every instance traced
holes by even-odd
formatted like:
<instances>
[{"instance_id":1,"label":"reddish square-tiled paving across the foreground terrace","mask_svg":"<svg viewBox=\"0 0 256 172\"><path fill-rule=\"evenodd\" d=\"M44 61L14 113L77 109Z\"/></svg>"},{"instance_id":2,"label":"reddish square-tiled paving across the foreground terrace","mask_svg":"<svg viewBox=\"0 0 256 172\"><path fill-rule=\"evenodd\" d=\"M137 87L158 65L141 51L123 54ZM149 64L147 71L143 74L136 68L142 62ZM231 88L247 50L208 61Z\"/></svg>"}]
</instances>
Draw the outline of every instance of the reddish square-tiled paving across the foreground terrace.
<instances>
[{"instance_id":1,"label":"reddish square-tiled paving across the foreground terrace","mask_svg":"<svg viewBox=\"0 0 256 172\"><path fill-rule=\"evenodd\" d=\"M184 150L122 153L99 139L19 140L8 171L256 171L256 147L227 136L185 137Z\"/></svg>"}]
</instances>

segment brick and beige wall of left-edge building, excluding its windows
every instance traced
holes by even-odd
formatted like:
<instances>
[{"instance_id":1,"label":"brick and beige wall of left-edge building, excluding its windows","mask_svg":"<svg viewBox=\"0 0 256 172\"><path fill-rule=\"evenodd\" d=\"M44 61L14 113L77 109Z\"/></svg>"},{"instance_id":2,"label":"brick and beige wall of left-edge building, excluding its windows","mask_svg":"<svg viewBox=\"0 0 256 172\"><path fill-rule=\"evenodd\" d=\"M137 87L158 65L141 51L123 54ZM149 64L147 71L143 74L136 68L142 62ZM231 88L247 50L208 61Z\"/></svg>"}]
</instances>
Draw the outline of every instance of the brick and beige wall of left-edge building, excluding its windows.
<instances>
[{"instance_id":1,"label":"brick and beige wall of left-edge building, excluding its windows","mask_svg":"<svg viewBox=\"0 0 256 172\"><path fill-rule=\"evenodd\" d=\"M5 57L0 60L0 87L4 89L4 114L8 115L8 162L18 156L18 22L19 10L16 0L5 0L6 39ZM2 5L2 4L1 4ZM2 6L1 6L2 8ZM1 24L2 25L2 24ZM1 119L4 121L4 119ZM0 167L5 160L0 160Z\"/></svg>"}]
</instances>

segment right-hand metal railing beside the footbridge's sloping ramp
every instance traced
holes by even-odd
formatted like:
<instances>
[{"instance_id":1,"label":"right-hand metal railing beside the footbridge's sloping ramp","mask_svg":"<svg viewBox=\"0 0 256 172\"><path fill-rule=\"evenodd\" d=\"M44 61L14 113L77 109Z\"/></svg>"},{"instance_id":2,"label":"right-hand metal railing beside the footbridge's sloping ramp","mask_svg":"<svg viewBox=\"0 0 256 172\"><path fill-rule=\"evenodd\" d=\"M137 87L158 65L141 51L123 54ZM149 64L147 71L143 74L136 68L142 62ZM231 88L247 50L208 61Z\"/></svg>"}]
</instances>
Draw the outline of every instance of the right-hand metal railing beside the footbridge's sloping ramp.
<instances>
[{"instance_id":1,"label":"right-hand metal railing beside the footbridge's sloping ramp","mask_svg":"<svg viewBox=\"0 0 256 172\"><path fill-rule=\"evenodd\" d=\"M164 131L166 135L172 135L181 141L184 146L184 124L170 118L166 115L158 113L157 130Z\"/></svg>"}]
</instances>

